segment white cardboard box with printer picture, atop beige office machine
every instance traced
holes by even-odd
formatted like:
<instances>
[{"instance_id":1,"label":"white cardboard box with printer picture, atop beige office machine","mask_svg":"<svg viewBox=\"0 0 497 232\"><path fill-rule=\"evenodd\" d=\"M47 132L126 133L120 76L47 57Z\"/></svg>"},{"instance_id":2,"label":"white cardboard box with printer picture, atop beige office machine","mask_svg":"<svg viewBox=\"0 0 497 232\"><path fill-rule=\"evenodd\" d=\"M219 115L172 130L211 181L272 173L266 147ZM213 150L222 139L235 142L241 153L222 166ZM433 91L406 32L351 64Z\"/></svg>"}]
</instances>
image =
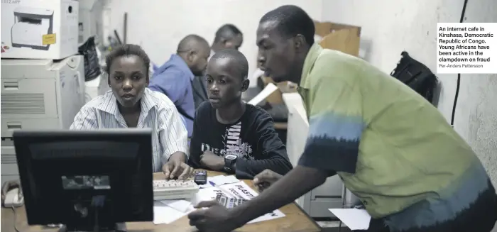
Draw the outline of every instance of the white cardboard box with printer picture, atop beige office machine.
<instances>
[{"instance_id":1,"label":"white cardboard box with printer picture, atop beige office machine","mask_svg":"<svg viewBox=\"0 0 497 232\"><path fill-rule=\"evenodd\" d=\"M1 1L1 57L60 60L77 54L79 2Z\"/></svg>"}]
</instances>

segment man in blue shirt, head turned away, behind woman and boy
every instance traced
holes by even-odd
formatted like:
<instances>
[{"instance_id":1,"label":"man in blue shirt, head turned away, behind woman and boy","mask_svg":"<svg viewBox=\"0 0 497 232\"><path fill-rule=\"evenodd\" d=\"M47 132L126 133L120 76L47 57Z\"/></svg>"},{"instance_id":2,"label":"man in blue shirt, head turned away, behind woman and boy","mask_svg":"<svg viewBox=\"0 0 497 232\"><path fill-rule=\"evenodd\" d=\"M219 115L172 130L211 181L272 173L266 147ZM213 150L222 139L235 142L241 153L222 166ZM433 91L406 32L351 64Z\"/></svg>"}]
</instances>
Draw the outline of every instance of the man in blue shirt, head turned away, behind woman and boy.
<instances>
[{"instance_id":1,"label":"man in blue shirt, head turned away, behind woman and boy","mask_svg":"<svg viewBox=\"0 0 497 232\"><path fill-rule=\"evenodd\" d=\"M176 109L185 118L188 138L192 135L195 104L192 94L192 81L202 76L209 58L209 43L199 35L187 35L178 44L176 54L153 73L148 86L161 92L173 101Z\"/></svg>"}]
</instances>

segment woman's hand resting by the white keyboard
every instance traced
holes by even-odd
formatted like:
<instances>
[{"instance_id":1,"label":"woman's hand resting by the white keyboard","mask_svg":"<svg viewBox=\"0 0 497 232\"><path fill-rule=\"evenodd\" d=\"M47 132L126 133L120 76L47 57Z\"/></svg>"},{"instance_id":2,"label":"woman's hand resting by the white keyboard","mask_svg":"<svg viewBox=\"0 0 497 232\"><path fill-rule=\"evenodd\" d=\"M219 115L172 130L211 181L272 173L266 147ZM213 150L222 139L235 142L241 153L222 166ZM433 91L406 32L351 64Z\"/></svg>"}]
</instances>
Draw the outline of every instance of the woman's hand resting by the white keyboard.
<instances>
[{"instance_id":1,"label":"woman's hand resting by the white keyboard","mask_svg":"<svg viewBox=\"0 0 497 232\"><path fill-rule=\"evenodd\" d=\"M168 162L162 166L165 179L187 179L193 174L193 168L186 164L186 155L184 153L173 153Z\"/></svg>"}]
</instances>

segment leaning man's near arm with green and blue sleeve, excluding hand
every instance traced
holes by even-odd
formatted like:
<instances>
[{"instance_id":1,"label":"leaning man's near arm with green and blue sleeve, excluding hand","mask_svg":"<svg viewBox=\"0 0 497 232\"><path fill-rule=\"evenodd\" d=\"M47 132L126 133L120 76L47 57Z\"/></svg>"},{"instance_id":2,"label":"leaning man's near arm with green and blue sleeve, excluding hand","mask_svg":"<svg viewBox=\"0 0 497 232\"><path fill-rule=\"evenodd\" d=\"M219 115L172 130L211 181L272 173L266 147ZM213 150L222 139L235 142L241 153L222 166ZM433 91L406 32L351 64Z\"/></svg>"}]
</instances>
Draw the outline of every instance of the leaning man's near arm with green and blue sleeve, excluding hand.
<instances>
[{"instance_id":1,"label":"leaning man's near arm with green and blue sleeve, excluding hand","mask_svg":"<svg viewBox=\"0 0 497 232\"><path fill-rule=\"evenodd\" d=\"M359 88L342 79L322 78L317 83L299 165L255 199L233 208L234 220L246 223L289 204L336 172L355 172L365 127Z\"/></svg>"}]
</instances>

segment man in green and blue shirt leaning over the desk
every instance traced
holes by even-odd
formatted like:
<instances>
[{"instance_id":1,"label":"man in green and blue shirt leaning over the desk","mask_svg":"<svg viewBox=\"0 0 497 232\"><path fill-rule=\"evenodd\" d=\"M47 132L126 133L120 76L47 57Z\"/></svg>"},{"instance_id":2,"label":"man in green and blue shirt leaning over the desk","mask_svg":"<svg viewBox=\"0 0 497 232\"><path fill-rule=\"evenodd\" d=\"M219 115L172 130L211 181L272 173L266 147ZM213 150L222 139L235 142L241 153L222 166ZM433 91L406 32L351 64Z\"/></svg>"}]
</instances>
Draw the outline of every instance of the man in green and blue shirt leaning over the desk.
<instances>
[{"instance_id":1,"label":"man in green and blue shirt leaning over the desk","mask_svg":"<svg viewBox=\"0 0 497 232\"><path fill-rule=\"evenodd\" d=\"M266 13L257 31L266 75L300 83L310 126L299 165L241 206L200 203L209 209L192 212L190 224L231 231L337 174L361 199L371 225L380 222L369 231L491 231L496 190L442 114L364 60L314 44L314 33L297 6Z\"/></svg>"}]
</instances>

